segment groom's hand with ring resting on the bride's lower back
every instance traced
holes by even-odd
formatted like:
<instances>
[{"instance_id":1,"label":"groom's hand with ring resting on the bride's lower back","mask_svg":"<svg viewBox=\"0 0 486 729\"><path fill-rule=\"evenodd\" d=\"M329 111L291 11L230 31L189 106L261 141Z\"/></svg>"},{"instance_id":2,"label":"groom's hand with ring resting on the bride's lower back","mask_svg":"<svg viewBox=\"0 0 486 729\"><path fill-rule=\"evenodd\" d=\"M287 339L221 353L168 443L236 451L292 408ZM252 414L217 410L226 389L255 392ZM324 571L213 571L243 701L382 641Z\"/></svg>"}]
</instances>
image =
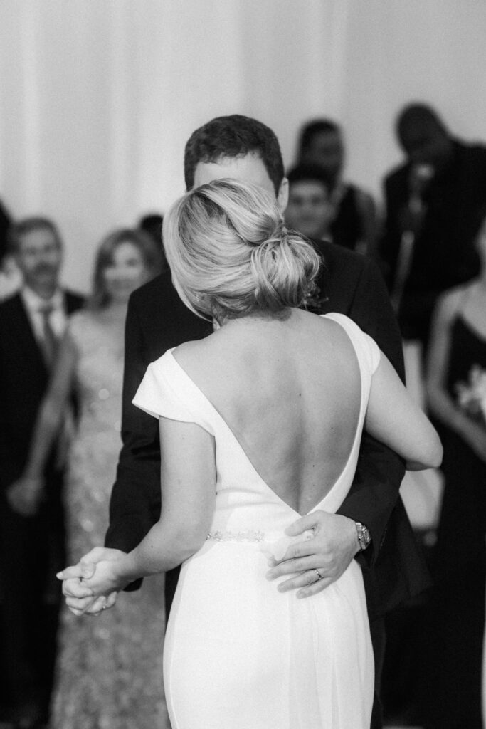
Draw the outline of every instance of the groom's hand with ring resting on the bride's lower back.
<instances>
[{"instance_id":1,"label":"groom's hand with ring resting on the bride's lower back","mask_svg":"<svg viewBox=\"0 0 486 729\"><path fill-rule=\"evenodd\" d=\"M278 585L278 590L298 589L299 598L315 595L331 585L359 551L356 523L347 516L315 511L297 519L286 534L297 537L305 531L312 531L313 537L290 545L280 561L270 561L267 573L269 580L292 574Z\"/></svg>"}]
</instances>

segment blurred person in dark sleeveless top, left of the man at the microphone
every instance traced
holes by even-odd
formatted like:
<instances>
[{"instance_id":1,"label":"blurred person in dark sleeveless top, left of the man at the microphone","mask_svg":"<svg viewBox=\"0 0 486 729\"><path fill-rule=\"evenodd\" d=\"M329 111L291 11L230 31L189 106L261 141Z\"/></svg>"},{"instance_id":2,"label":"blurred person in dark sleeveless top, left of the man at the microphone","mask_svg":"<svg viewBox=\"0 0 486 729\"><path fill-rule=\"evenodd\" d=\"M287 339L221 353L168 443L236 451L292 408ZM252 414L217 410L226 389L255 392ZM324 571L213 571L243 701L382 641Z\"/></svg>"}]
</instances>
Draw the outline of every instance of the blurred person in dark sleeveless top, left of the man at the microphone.
<instances>
[{"instance_id":1,"label":"blurred person in dark sleeveless top, left of the man at the microphone","mask_svg":"<svg viewBox=\"0 0 486 729\"><path fill-rule=\"evenodd\" d=\"M298 161L321 167L326 176L332 208L332 242L358 253L372 253L377 237L375 203L368 192L343 182L345 148L342 130L336 122L317 119L300 132Z\"/></svg>"}]
</instances>

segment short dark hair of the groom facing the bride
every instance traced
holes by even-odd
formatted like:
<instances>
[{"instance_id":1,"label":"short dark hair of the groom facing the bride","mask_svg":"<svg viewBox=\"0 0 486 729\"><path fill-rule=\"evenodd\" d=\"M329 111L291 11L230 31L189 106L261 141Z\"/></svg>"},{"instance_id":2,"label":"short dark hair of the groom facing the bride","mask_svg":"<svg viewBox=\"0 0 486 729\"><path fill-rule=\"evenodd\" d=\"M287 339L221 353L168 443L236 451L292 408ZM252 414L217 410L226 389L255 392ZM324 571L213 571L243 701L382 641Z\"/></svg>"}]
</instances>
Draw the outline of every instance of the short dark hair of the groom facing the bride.
<instances>
[{"instance_id":1,"label":"short dark hair of the groom facing the bride","mask_svg":"<svg viewBox=\"0 0 486 729\"><path fill-rule=\"evenodd\" d=\"M278 195L284 174L278 139L270 127L241 114L216 117L192 132L184 150L186 189L194 187L198 163L217 163L221 157L244 157L251 152L262 160Z\"/></svg>"}]
</instances>

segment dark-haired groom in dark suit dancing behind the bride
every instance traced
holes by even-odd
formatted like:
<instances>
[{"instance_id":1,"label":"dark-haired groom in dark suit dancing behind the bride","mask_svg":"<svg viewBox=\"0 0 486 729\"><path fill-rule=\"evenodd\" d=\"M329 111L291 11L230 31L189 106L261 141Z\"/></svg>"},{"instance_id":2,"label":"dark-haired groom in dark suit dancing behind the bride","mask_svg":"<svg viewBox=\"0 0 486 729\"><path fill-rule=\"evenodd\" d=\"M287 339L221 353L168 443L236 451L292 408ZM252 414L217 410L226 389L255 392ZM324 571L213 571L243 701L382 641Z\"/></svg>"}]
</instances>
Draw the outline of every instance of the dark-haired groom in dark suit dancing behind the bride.
<instances>
[{"instance_id":1,"label":"dark-haired groom in dark suit dancing behind the bride","mask_svg":"<svg viewBox=\"0 0 486 729\"><path fill-rule=\"evenodd\" d=\"M213 179L236 178L272 192L283 211L288 183L278 140L261 122L240 115L219 117L197 129L184 155L187 190ZM318 281L321 291L313 310L338 311L377 341L403 375L401 339L385 286L375 265L364 257L328 242L315 243L324 260ZM123 447L110 504L106 548L99 548L65 571L63 591L74 611L92 615L111 607L93 599L89 577L101 558L128 552L157 521L160 514L160 448L154 418L131 404L149 362L181 342L208 335L207 322L197 319L179 300L170 273L138 289L128 305L123 391ZM399 601L415 595L428 577L415 545L412 529L399 497L404 466L395 453L364 435L353 486L338 514L313 512L300 518L294 534L314 529L315 537L290 547L273 576L294 575L287 588L313 594L345 571L353 558L363 567L367 604L377 666L383 658L383 615ZM322 579L316 580L316 570ZM174 571L176 572L176 571ZM297 576L295 576L295 573ZM82 577L85 577L83 582ZM176 576L167 575L170 603ZM131 585L136 588L138 585ZM378 687L378 685L377 685ZM375 702L374 727L380 727Z\"/></svg>"}]
</instances>

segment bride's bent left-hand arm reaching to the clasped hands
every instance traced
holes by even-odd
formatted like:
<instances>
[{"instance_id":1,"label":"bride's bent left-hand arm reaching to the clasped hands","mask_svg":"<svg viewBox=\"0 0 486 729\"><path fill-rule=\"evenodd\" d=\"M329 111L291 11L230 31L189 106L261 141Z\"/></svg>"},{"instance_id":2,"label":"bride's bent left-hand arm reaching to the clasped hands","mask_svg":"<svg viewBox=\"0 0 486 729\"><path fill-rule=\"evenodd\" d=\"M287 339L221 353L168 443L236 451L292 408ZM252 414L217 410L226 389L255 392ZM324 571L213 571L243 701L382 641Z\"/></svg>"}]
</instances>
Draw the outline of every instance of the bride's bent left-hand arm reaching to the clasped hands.
<instances>
[{"instance_id":1,"label":"bride's bent left-hand arm reaching to the clasped hands","mask_svg":"<svg viewBox=\"0 0 486 729\"><path fill-rule=\"evenodd\" d=\"M141 543L118 559L100 561L85 585L94 595L167 572L202 547L216 496L214 438L194 423L160 418L162 513Z\"/></svg>"}]
</instances>

